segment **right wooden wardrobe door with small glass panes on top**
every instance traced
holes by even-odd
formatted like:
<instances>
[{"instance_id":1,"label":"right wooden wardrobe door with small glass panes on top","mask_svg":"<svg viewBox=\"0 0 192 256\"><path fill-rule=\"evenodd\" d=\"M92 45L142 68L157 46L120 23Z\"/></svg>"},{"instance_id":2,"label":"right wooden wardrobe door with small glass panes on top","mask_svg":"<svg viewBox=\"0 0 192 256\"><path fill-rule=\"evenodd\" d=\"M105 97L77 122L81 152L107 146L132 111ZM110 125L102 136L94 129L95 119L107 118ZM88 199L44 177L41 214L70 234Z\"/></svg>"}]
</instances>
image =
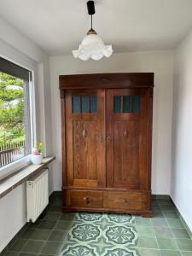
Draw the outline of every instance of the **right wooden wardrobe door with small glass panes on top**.
<instances>
[{"instance_id":1,"label":"right wooden wardrobe door with small glass panes on top","mask_svg":"<svg viewBox=\"0 0 192 256\"><path fill-rule=\"evenodd\" d=\"M148 187L147 91L145 89L107 90L109 188L147 189Z\"/></svg>"}]
</instances>

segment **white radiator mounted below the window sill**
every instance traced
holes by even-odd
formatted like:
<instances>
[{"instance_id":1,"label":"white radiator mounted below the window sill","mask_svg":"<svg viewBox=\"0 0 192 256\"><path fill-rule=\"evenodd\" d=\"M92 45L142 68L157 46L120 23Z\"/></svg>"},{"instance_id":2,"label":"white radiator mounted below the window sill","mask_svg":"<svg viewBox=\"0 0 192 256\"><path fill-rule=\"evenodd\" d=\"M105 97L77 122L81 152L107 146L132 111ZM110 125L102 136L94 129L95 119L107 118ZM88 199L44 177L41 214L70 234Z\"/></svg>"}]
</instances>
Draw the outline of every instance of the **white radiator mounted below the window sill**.
<instances>
[{"instance_id":1,"label":"white radiator mounted below the window sill","mask_svg":"<svg viewBox=\"0 0 192 256\"><path fill-rule=\"evenodd\" d=\"M26 181L27 222L35 222L48 203L48 169L45 169Z\"/></svg>"}]
</instances>

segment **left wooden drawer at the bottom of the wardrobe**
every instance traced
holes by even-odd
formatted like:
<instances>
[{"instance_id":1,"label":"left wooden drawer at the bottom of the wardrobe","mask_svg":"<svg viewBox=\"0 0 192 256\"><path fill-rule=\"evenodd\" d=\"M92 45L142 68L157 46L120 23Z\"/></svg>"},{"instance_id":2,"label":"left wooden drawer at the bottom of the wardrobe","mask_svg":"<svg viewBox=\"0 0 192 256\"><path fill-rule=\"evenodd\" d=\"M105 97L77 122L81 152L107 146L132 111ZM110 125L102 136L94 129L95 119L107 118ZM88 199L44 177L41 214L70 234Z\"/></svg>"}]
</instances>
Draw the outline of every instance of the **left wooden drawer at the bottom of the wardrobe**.
<instances>
[{"instance_id":1,"label":"left wooden drawer at the bottom of the wardrobe","mask_svg":"<svg viewBox=\"0 0 192 256\"><path fill-rule=\"evenodd\" d=\"M102 208L102 191L70 191L71 207Z\"/></svg>"}]
</instances>

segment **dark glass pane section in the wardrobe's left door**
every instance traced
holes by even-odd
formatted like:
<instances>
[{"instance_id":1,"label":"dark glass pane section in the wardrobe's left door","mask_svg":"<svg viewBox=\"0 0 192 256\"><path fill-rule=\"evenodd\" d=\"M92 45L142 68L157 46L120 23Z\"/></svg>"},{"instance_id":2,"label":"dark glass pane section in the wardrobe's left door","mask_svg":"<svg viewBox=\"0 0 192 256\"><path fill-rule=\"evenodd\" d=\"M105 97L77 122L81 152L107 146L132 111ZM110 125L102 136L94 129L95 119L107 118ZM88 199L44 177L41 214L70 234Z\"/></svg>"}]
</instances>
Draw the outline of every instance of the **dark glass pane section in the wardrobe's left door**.
<instances>
[{"instance_id":1,"label":"dark glass pane section in the wardrobe's left door","mask_svg":"<svg viewBox=\"0 0 192 256\"><path fill-rule=\"evenodd\" d=\"M73 113L96 113L96 96L73 96Z\"/></svg>"}]
</instances>

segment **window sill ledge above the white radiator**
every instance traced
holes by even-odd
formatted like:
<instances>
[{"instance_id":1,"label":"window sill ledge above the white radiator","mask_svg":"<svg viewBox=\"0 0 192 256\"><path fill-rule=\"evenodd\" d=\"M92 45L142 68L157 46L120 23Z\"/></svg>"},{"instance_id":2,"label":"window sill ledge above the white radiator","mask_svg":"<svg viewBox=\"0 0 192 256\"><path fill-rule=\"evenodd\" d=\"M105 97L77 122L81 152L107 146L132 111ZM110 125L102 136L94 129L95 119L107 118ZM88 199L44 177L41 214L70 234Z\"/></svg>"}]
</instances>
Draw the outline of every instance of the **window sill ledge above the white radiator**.
<instances>
[{"instance_id":1,"label":"window sill ledge above the white radiator","mask_svg":"<svg viewBox=\"0 0 192 256\"><path fill-rule=\"evenodd\" d=\"M5 177L4 179L0 180L0 198L2 198L4 195L7 195L11 190L18 187L21 183L26 182L28 178L36 175L37 172L44 169L44 167L49 165L49 163L53 160L55 160L55 157L45 157L42 164L30 164L23 168L23 170L20 170L20 172L18 171L12 176Z\"/></svg>"}]
</instances>

